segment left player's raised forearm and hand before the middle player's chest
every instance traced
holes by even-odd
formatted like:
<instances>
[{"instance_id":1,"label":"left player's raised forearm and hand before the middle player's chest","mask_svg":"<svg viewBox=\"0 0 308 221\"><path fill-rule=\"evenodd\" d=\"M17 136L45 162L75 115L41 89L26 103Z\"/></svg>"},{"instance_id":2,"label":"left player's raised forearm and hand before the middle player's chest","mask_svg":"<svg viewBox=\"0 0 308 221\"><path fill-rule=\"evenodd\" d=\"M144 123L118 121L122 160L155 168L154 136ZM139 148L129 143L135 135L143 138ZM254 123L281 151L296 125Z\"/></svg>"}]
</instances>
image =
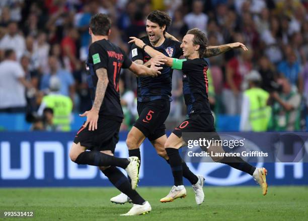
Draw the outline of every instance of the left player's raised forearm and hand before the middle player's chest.
<instances>
[{"instance_id":1,"label":"left player's raised forearm and hand before the middle player's chest","mask_svg":"<svg viewBox=\"0 0 308 221\"><path fill-rule=\"evenodd\" d=\"M159 70L163 69L163 67L158 67L163 63L164 58L158 58L156 62L152 62L150 68L144 66L144 65L139 65L135 62L131 64L129 67L129 70L132 71L136 76L143 76L143 77L157 77L158 75L161 74Z\"/></svg>"}]
</instances>

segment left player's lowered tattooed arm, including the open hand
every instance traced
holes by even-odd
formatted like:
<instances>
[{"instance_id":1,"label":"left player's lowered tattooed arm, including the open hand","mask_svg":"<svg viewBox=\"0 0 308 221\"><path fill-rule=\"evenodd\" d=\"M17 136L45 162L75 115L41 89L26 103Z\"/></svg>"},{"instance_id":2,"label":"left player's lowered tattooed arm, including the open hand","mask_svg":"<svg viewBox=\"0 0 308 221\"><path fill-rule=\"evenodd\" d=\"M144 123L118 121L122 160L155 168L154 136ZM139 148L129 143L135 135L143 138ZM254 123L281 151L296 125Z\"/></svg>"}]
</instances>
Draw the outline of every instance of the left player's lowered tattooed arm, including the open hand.
<instances>
[{"instance_id":1,"label":"left player's lowered tattooed arm, including the open hand","mask_svg":"<svg viewBox=\"0 0 308 221\"><path fill-rule=\"evenodd\" d=\"M96 70L96 75L98 77L95 99L90 111L85 112L80 115L81 117L87 117L87 122L84 124L84 127L87 127L89 124L89 131L94 131L97 129L97 121L99 117L99 111L102 105L102 102L105 97L105 92L109 83L107 70L105 68L100 68Z\"/></svg>"}]
</instances>

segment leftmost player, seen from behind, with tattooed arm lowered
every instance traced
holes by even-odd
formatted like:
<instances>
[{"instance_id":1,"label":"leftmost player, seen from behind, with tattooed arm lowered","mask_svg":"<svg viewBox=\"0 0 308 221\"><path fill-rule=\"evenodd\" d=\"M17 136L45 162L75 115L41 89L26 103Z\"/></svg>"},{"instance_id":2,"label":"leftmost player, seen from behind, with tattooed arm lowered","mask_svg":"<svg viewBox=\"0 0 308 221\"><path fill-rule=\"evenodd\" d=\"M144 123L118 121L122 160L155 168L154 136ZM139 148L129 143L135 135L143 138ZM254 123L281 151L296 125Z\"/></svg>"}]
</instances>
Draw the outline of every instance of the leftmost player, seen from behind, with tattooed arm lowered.
<instances>
[{"instance_id":1,"label":"leftmost player, seen from behind, with tattooed arm lowered","mask_svg":"<svg viewBox=\"0 0 308 221\"><path fill-rule=\"evenodd\" d=\"M123 120L119 75L121 68L128 68L137 76L156 77L162 68L155 66L158 62L152 63L150 68L131 62L121 48L108 40L110 27L111 22L105 14L97 14L91 18L89 33L92 44L89 48L87 70L93 106L90 111L80 115L87 117L87 121L77 132L69 157L78 164L100 167L110 182L133 202L133 207L123 215L138 215L151 210L150 204L134 190L137 185L138 158L113 156ZM126 170L131 184L116 167Z\"/></svg>"}]
</instances>

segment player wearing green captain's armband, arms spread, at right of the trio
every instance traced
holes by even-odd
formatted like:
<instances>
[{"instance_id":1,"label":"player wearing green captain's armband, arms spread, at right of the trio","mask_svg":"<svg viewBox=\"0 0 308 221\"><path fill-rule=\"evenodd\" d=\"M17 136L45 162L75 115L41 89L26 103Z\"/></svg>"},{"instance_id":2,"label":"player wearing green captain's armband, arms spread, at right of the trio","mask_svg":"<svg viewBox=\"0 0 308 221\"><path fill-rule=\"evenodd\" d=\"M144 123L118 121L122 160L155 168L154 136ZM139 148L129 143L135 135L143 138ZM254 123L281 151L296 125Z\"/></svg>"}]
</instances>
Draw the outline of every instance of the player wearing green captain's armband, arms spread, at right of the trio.
<instances>
[{"instance_id":1,"label":"player wearing green captain's armband, arms spread, at right of the trio","mask_svg":"<svg viewBox=\"0 0 308 221\"><path fill-rule=\"evenodd\" d=\"M142 40L131 37L139 48L143 48L151 57L162 55L160 51L146 45ZM219 49L227 50L230 48L243 48L247 50L242 43L232 43L219 46ZM172 202L174 199L186 195L183 186L182 159L179 154L185 141L182 137L183 132L214 132L214 119L210 111L208 102L208 83L206 71L208 69L207 62L203 59L207 50L207 37L197 28L191 29L183 38L181 44L183 55L186 59L178 60L166 57L165 65L183 71L183 94L187 105L189 118L179 124L172 132L165 143L165 149L169 156L169 162L174 177L174 186L170 193L161 199L161 202ZM223 152L222 147L210 147L208 151ZM262 188L263 195L267 192L265 168L255 168L240 157L223 156L212 157L214 161L225 163L235 169L241 170L254 177Z\"/></svg>"}]
</instances>

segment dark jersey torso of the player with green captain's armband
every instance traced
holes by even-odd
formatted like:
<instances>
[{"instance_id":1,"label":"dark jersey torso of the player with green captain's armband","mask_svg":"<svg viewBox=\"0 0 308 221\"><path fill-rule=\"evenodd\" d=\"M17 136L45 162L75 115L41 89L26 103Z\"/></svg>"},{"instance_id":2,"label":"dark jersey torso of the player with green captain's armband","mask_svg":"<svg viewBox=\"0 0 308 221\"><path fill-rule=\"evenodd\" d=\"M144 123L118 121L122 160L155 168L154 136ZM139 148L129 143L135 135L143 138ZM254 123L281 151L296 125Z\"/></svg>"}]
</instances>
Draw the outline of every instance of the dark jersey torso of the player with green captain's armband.
<instances>
[{"instance_id":1,"label":"dark jersey torso of the player with green captain's armband","mask_svg":"<svg viewBox=\"0 0 308 221\"><path fill-rule=\"evenodd\" d=\"M187 114L211 114L208 102L208 64L204 59L187 59L183 62L183 94Z\"/></svg>"}]
</instances>

